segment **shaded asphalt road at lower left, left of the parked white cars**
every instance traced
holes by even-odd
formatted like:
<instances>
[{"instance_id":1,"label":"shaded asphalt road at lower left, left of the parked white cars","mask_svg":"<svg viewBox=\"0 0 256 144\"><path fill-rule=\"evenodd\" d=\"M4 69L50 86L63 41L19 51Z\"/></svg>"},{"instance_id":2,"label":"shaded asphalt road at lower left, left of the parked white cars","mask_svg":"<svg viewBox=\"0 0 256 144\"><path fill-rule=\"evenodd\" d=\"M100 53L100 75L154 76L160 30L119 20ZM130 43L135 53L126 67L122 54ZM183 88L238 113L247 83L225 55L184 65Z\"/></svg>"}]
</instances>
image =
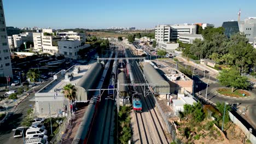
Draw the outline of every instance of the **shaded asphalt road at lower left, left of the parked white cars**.
<instances>
[{"instance_id":1,"label":"shaded asphalt road at lower left, left of the parked white cars","mask_svg":"<svg viewBox=\"0 0 256 144\"><path fill-rule=\"evenodd\" d=\"M42 86L36 88L38 91L40 88L44 87L50 81L45 81ZM27 110L30 105L34 106L35 101L34 93L31 93L26 99L24 99L14 110L14 115L10 117L0 126L0 143L22 143L22 138L13 138L14 132L12 129L20 127L20 123L24 117L27 116Z\"/></svg>"}]
</instances>

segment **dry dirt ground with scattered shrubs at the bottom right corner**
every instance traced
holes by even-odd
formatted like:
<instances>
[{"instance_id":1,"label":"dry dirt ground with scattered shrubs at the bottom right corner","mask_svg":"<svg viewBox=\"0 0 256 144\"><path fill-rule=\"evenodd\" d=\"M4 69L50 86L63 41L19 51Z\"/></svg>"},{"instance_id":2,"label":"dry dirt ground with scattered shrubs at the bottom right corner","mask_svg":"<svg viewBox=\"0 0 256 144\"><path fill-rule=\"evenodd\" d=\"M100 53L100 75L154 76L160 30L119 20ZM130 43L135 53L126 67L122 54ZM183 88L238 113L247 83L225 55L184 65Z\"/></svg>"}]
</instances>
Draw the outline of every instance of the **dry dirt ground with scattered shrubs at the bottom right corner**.
<instances>
[{"instance_id":1,"label":"dry dirt ground with scattered shrubs at the bottom right corner","mask_svg":"<svg viewBox=\"0 0 256 144\"><path fill-rule=\"evenodd\" d=\"M189 121L189 120L188 120ZM207 122L203 121L197 125L191 125L188 121L180 121L178 126L178 138L185 143L230 143L230 144L240 144L246 143L246 136L243 134L242 130L237 127L234 123L226 124L227 130L224 128L226 134L224 134L216 125L212 128L206 128ZM189 137L184 136L184 128L189 128Z\"/></svg>"}]
</instances>

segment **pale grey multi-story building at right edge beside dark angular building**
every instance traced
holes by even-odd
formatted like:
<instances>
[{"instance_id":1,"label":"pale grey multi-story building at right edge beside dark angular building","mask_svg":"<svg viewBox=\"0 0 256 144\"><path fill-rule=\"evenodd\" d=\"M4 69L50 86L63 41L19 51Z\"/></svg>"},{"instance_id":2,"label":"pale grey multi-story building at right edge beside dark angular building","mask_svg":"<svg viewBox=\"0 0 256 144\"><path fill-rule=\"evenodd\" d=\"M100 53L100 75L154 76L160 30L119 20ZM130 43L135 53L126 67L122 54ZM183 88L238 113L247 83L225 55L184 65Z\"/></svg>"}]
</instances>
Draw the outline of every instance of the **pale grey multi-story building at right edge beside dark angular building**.
<instances>
[{"instance_id":1,"label":"pale grey multi-story building at right edge beside dark angular building","mask_svg":"<svg viewBox=\"0 0 256 144\"><path fill-rule=\"evenodd\" d=\"M249 43L256 48L256 17L248 17L244 21L238 21L239 31L245 33Z\"/></svg>"}]
</instances>

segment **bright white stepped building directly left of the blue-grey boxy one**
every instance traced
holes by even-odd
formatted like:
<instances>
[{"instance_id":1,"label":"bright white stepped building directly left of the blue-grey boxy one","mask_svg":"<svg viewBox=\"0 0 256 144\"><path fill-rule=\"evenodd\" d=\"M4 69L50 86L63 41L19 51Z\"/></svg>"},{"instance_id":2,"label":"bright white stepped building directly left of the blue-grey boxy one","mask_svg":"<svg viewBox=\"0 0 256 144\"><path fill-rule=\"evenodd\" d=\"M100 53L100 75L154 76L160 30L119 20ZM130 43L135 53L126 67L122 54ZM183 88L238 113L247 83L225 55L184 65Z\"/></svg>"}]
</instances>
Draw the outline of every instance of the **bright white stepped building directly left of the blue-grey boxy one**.
<instances>
[{"instance_id":1,"label":"bright white stepped building directly left of the blue-grey boxy one","mask_svg":"<svg viewBox=\"0 0 256 144\"><path fill-rule=\"evenodd\" d=\"M59 36L44 35L44 33L42 33L43 52L50 53L51 55L59 53L57 41L60 41L61 39L62 38Z\"/></svg>"}]
</instances>

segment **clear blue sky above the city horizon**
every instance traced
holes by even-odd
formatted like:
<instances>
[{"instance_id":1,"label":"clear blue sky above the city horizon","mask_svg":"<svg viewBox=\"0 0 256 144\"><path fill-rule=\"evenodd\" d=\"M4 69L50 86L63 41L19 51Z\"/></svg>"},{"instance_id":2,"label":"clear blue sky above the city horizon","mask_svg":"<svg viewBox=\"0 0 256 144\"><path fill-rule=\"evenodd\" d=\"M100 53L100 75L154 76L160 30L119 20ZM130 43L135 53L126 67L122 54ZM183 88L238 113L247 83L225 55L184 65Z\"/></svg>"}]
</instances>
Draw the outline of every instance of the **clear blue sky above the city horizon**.
<instances>
[{"instance_id":1,"label":"clear blue sky above the city horizon","mask_svg":"<svg viewBox=\"0 0 256 144\"><path fill-rule=\"evenodd\" d=\"M214 23L256 17L256 1L3 0L7 26L153 28L158 24Z\"/></svg>"}]
</instances>

